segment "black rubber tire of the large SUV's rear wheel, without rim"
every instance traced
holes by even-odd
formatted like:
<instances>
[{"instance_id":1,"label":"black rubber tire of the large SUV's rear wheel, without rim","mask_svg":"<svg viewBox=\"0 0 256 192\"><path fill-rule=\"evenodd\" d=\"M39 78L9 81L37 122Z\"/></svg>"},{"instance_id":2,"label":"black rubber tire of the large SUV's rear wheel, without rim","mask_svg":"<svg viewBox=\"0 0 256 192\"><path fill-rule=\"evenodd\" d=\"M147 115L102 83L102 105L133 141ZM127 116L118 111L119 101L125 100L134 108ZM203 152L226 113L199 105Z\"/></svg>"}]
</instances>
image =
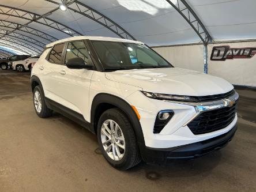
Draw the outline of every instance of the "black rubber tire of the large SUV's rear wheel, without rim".
<instances>
[{"instance_id":1,"label":"black rubber tire of the large SUV's rear wheel, without rim","mask_svg":"<svg viewBox=\"0 0 256 192\"><path fill-rule=\"evenodd\" d=\"M40 111L36 110L36 104L35 104L35 93L36 92L39 92L40 97L41 97L42 109ZM34 104L36 114L38 116L40 116L40 118L47 118L49 116L52 116L52 110L46 106L45 97L43 95L42 88L39 85L37 85L33 90L33 104Z\"/></svg>"}]
</instances>

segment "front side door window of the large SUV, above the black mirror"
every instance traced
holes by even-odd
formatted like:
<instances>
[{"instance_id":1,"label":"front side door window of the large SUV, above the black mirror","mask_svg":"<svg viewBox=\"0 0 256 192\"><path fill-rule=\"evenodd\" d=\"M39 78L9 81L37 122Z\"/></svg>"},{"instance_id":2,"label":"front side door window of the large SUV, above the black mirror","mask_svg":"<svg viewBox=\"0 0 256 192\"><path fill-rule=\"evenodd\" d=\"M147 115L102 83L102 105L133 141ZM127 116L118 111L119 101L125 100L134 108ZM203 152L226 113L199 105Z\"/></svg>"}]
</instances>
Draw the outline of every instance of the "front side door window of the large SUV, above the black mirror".
<instances>
[{"instance_id":1,"label":"front side door window of the large SUV, above the black mirror","mask_svg":"<svg viewBox=\"0 0 256 192\"><path fill-rule=\"evenodd\" d=\"M80 57L84 60L85 65L88 64L89 52L85 47L83 41L79 42L69 42L66 50L65 62L69 59Z\"/></svg>"}]
</instances>

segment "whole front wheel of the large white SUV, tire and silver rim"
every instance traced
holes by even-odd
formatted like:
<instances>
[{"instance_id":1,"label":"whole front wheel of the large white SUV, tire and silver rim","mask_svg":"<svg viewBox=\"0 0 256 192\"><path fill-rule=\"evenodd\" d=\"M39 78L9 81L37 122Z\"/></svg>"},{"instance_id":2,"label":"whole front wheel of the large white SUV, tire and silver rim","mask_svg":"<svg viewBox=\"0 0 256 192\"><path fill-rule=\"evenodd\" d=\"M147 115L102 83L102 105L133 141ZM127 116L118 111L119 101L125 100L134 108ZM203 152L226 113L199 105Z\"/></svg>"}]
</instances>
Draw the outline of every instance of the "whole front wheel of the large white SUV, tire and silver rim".
<instances>
[{"instance_id":1,"label":"whole front wheel of the large white SUV, tire and silver rim","mask_svg":"<svg viewBox=\"0 0 256 192\"><path fill-rule=\"evenodd\" d=\"M113 167L127 170L141 161L133 127L118 108L103 112L97 127L101 152Z\"/></svg>"}]
</instances>

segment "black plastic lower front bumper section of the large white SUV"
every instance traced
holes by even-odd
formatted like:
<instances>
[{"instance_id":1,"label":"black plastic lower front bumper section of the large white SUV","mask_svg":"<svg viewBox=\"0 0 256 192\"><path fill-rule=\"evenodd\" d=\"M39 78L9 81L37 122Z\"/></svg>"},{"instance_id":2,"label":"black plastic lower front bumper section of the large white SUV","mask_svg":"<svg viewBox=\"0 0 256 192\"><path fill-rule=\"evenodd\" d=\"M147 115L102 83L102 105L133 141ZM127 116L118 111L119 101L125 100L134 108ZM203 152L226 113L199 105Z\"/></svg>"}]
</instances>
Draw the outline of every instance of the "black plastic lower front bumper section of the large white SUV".
<instances>
[{"instance_id":1,"label":"black plastic lower front bumper section of the large white SUV","mask_svg":"<svg viewBox=\"0 0 256 192\"><path fill-rule=\"evenodd\" d=\"M193 144L181 145L172 148L149 148L140 147L142 159L150 164L166 164L172 159L194 159L204 156L210 152L223 148L235 135L237 125L227 133L209 140L195 142Z\"/></svg>"}]
</instances>

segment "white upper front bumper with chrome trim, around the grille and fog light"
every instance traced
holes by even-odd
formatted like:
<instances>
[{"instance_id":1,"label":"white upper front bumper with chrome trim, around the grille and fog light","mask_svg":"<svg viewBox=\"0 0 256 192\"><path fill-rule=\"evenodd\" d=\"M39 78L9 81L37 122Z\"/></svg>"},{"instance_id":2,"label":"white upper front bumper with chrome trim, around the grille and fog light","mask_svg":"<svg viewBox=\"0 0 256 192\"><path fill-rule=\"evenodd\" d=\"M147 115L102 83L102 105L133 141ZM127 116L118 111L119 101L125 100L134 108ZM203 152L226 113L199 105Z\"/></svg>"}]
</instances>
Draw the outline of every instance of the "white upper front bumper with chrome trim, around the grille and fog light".
<instances>
[{"instance_id":1,"label":"white upper front bumper with chrome trim, around the grille and fog light","mask_svg":"<svg viewBox=\"0 0 256 192\"><path fill-rule=\"evenodd\" d=\"M141 116L140 123L144 135L145 146L149 148L165 149L202 142L230 131L232 127L236 125L238 120L237 115L235 115L234 120L227 126L221 127L219 130L215 129L209 133L193 134L187 125L204 111L218 110L234 105L234 102L238 100L238 97L238 94L235 93L227 99L202 103L180 103L175 101L150 99L138 91L134 92L129 97L126 97L126 100L137 108ZM163 110L174 111L174 116L159 134L154 134L153 129L157 114L159 111Z\"/></svg>"}]
</instances>

